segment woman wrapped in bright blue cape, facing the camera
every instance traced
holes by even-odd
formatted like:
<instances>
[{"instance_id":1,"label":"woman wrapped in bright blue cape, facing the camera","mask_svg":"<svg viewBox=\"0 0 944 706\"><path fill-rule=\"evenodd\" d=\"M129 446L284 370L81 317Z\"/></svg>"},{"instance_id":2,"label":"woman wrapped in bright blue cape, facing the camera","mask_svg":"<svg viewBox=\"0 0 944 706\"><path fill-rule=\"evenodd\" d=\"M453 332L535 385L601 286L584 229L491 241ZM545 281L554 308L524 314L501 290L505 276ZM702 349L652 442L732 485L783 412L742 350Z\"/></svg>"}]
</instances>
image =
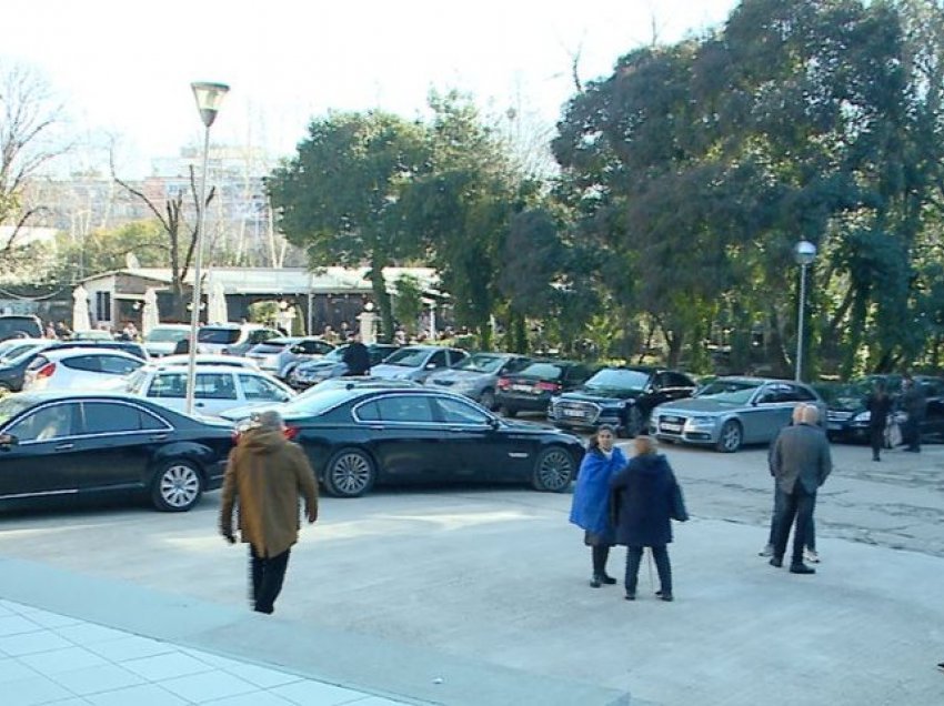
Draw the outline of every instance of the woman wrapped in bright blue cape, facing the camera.
<instances>
[{"instance_id":1,"label":"woman wrapped in bright blue cape, facing the camera","mask_svg":"<svg viewBox=\"0 0 944 706\"><path fill-rule=\"evenodd\" d=\"M601 424L590 437L571 503L570 521L583 528L583 543L590 547L593 588L616 583L606 574L606 558L615 544L610 522L610 478L626 465L626 456L613 445L615 441L616 433L609 424Z\"/></svg>"}]
</instances>

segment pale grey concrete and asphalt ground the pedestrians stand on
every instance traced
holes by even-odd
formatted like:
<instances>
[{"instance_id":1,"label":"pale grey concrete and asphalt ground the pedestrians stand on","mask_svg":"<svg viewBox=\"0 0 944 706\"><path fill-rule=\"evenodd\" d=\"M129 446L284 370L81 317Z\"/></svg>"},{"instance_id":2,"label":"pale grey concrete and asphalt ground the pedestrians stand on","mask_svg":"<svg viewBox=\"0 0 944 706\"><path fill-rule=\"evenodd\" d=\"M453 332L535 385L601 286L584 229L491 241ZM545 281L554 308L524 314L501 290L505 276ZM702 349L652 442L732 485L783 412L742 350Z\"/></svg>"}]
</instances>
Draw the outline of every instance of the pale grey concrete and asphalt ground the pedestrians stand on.
<instances>
[{"instance_id":1,"label":"pale grey concrete and asphalt ground the pedestrians stand on","mask_svg":"<svg viewBox=\"0 0 944 706\"><path fill-rule=\"evenodd\" d=\"M936 706L944 703L944 675L934 668L944 659L944 447L895 452L881 464L867 448L835 452L817 510L816 576L756 556L772 500L763 450L670 447L694 516L672 546L673 604L626 603L619 586L586 586L589 557L566 524L569 496L381 492L324 502L265 626L350 647L310 655L307 668L321 673L305 675L403 700L543 704L520 696L545 683L561 693L602 689L593 698L603 700L570 702L580 704L631 692L634 704ZM0 555L53 567L67 583L93 577L243 612L245 557L213 534L217 507L211 495L185 516L14 514L0 521ZM622 549L615 556L611 573ZM0 597L24 597L9 595L6 568ZM268 646L245 642L228 647L267 662ZM489 689L499 683L491 677L470 676L490 669L518 700Z\"/></svg>"}]
</instances>

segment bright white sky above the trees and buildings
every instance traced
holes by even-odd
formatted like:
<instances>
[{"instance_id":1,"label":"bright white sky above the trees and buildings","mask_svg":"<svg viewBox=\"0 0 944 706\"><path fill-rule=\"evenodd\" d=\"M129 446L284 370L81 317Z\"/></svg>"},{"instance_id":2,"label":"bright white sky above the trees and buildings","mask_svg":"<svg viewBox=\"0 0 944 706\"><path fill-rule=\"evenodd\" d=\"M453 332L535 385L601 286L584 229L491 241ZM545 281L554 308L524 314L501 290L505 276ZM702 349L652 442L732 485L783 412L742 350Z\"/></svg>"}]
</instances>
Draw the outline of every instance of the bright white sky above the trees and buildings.
<instances>
[{"instance_id":1,"label":"bright white sky above the trees and buildings","mask_svg":"<svg viewBox=\"0 0 944 706\"><path fill-rule=\"evenodd\" d=\"M229 83L213 143L291 154L329 109L423 114L430 89L553 124L581 79L723 23L736 0L4 0L0 61L39 68L119 168L199 144L191 81ZM11 21L13 20L13 21Z\"/></svg>"}]
</instances>

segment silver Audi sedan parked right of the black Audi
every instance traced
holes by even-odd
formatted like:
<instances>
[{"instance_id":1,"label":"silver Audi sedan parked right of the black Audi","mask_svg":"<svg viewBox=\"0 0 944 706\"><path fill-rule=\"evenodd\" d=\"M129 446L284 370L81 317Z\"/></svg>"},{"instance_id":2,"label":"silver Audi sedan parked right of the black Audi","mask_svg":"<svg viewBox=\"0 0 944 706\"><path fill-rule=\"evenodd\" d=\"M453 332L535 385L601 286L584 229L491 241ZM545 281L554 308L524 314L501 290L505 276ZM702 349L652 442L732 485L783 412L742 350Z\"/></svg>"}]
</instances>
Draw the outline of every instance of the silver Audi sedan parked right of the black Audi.
<instances>
[{"instance_id":1,"label":"silver Audi sedan parked right of the black Audi","mask_svg":"<svg viewBox=\"0 0 944 706\"><path fill-rule=\"evenodd\" d=\"M719 377L689 400L656 406L650 415L650 434L733 453L743 444L773 441L801 403L815 404L821 422L825 420L826 404L810 385L767 377Z\"/></svg>"}]
</instances>

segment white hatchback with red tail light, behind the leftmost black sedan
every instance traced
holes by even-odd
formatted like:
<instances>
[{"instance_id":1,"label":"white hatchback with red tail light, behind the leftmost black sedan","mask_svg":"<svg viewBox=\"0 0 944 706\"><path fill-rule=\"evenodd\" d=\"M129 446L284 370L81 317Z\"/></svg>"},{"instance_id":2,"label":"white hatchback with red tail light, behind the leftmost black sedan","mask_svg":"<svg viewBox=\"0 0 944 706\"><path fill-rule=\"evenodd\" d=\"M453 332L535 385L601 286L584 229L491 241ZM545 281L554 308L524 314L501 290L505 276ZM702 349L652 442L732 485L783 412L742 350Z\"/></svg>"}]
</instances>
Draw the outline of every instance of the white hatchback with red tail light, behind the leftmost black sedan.
<instances>
[{"instance_id":1,"label":"white hatchback with red tail light, behind the leftmost black sedan","mask_svg":"<svg viewBox=\"0 0 944 706\"><path fill-rule=\"evenodd\" d=\"M108 389L144 365L130 353L112 349L61 349L37 355L27 367L23 390Z\"/></svg>"}]
</instances>

